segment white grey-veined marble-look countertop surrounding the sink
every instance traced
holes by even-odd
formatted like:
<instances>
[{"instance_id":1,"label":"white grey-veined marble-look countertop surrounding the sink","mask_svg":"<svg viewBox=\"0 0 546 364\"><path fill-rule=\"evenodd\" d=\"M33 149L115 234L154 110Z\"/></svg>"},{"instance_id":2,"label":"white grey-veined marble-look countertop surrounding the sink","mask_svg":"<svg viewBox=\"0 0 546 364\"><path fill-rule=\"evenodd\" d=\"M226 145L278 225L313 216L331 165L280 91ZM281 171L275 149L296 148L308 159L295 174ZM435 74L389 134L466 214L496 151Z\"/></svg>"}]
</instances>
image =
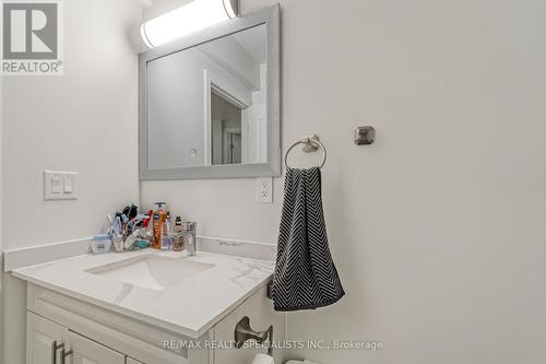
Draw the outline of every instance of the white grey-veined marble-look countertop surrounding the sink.
<instances>
[{"instance_id":1,"label":"white grey-veined marble-look countertop surrounding the sink","mask_svg":"<svg viewBox=\"0 0 546 364\"><path fill-rule=\"evenodd\" d=\"M205 262L214 267L164 290L144 289L86 272L99 266L150 254ZM186 251L144 249L78 256L21 268L14 270L13 275L197 339L265 285L273 270L274 262L265 260L202 251L188 257Z\"/></svg>"}]
</instances>

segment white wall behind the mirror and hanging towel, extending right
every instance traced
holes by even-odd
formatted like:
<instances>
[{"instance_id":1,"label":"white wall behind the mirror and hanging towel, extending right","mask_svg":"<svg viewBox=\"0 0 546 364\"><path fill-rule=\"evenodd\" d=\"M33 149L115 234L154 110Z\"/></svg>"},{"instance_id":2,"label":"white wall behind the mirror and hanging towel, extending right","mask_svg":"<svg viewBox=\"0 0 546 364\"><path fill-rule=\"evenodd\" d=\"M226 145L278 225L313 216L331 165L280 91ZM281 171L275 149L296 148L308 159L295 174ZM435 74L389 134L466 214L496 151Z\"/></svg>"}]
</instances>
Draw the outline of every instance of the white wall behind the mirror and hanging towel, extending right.
<instances>
[{"instance_id":1,"label":"white wall behind the mirror and hanging towel, extending right","mask_svg":"<svg viewBox=\"0 0 546 364\"><path fill-rule=\"evenodd\" d=\"M269 4L244 0L248 11ZM380 340L323 363L538 363L546 356L546 3L283 5L283 145L318 133L347 295L289 315L292 339ZM377 128L355 146L353 129ZM316 156L318 158L318 156ZM142 183L201 233L275 240L254 180Z\"/></svg>"}]
</instances>

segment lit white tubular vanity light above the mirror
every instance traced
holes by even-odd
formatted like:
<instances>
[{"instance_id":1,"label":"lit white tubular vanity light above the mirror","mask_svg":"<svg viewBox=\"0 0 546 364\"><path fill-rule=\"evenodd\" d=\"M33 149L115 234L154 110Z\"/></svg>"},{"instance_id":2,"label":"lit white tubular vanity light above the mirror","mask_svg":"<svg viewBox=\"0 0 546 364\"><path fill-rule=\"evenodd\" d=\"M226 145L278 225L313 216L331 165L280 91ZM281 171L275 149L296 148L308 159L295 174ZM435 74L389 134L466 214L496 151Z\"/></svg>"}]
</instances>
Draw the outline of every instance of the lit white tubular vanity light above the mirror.
<instances>
[{"instance_id":1,"label":"lit white tubular vanity light above the mirror","mask_svg":"<svg viewBox=\"0 0 546 364\"><path fill-rule=\"evenodd\" d=\"M238 15L237 0L193 0L183 7L152 19L141 26L150 48L200 31Z\"/></svg>"}]
</instances>

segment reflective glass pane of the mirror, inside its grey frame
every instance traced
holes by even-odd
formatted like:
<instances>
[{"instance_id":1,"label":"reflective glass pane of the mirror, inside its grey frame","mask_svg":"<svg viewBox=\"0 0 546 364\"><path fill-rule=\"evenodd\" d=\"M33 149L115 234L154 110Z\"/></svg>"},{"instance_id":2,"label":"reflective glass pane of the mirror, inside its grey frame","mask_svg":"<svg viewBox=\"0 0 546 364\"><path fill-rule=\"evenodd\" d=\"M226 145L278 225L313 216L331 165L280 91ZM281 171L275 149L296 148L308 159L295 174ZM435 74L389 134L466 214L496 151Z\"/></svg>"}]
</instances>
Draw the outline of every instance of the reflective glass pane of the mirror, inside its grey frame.
<instances>
[{"instance_id":1,"label":"reflective glass pane of the mirror, inside its grey frame","mask_svg":"<svg viewBox=\"0 0 546 364\"><path fill-rule=\"evenodd\" d=\"M266 163L266 30L147 62L151 168Z\"/></svg>"}]
</instances>

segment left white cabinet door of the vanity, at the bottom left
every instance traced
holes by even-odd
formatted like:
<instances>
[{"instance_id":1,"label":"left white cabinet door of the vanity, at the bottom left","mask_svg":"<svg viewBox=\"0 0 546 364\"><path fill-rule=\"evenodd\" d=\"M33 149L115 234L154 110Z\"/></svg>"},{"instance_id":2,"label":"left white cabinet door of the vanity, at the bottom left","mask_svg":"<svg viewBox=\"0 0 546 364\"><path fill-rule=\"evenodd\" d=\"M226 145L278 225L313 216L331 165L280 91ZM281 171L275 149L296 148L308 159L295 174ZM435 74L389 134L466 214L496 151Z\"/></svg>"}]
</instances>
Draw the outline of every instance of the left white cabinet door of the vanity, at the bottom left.
<instances>
[{"instance_id":1,"label":"left white cabinet door of the vanity, at the bottom left","mask_svg":"<svg viewBox=\"0 0 546 364\"><path fill-rule=\"evenodd\" d=\"M60 348L68 329L33 313L26 313L26 364L60 363ZM56 355L55 357L52 355Z\"/></svg>"}]
</instances>

